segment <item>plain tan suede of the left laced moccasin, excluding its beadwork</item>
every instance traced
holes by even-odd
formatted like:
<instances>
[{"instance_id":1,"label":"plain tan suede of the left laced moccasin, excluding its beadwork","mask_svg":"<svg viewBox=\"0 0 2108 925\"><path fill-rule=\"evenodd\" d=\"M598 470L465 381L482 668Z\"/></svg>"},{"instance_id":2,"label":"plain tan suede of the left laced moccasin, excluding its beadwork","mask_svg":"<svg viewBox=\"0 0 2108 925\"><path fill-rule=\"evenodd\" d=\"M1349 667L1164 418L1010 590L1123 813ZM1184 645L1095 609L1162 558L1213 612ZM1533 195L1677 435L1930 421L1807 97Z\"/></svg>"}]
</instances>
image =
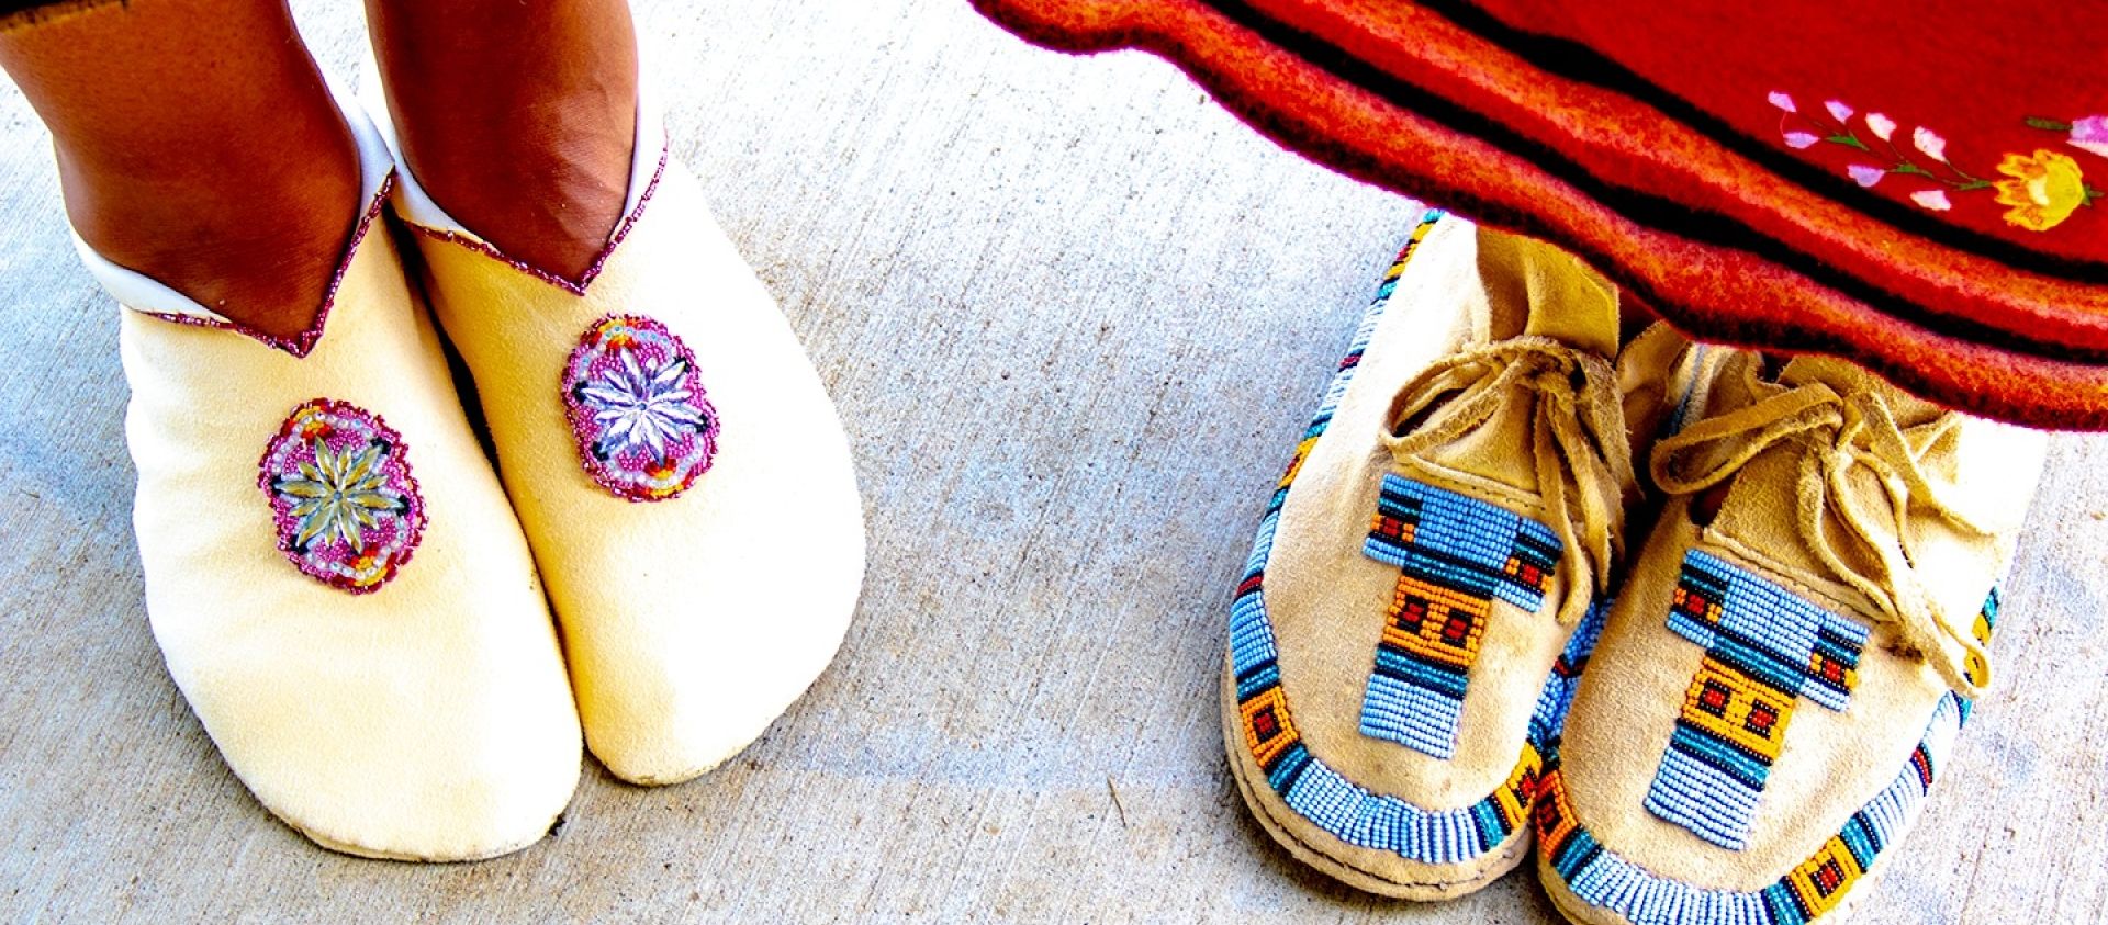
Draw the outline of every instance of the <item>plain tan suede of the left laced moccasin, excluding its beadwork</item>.
<instances>
[{"instance_id":1,"label":"plain tan suede of the left laced moccasin, excluding its beadwork","mask_svg":"<svg viewBox=\"0 0 2108 925\"><path fill-rule=\"evenodd\" d=\"M1412 436L1402 434L1412 434L1419 426L1440 426L1427 421L1450 413L1455 405L1473 402L1471 390L1482 381L1471 375L1478 375L1480 367L1457 367L1455 375L1442 373L1444 377L1429 386L1436 392L1429 394L1425 415L1412 411L1421 405L1400 407L1400 402L1419 388L1414 383L1423 373L1459 360L1478 362L1471 356L1497 343L1518 346L1524 354L1543 350L1545 356L1573 350L1579 356L1594 356L1585 362L1596 362L1602 379L1592 388L1600 388L1613 402L1606 430L1611 438L1623 442L1627 434L1615 409L1619 396L1611 383L1608 356L1600 354L1617 350L1617 301L1615 291L1573 257L1522 238L1478 230L1461 219L1436 221L1410 255L1387 303L1379 303L1381 314L1366 331L1366 346L1351 358L1345 392L1336 392L1336 405L1328 398L1330 417L1322 436L1299 451L1292 480L1284 483L1288 491L1277 518L1267 520L1271 535L1261 539L1265 554L1254 558L1254 569L1265 575L1265 598L1254 603L1263 607L1265 632L1277 649L1277 695L1284 697L1294 733L1313 761L1374 799L1404 801L1419 813L1484 813L1490 811L1480 807L1484 801L1507 792L1509 786L1528 786L1533 771L1518 769L1518 763L1535 754L1526 748L1533 714L1539 712L1554 662L1573 634L1573 626L1558 619L1560 605L1568 594L1579 594L1583 605L1596 596L1585 571L1587 584L1570 588L1575 560L1585 550L1579 548L1581 542L1562 544L1575 548L1564 550L1551 577L1541 586L1543 603L1535 611L1509 598L1488 601L1484 634L1478 638L1463 693L1455 752L1444 759L1364 729L1372 664L1389 619L1385 613L1400 590L1400 567L1372 558L1364 544L1387 476L1410 478L1425 487L1414 491L1455 493L1530 520L1575 516L1570 510L1549 508L1543 478L1554 472L1570 506L1579 506L1575 497L1587 480L1575 483L1581 476L1566 468L1562 455L1551 457L1551 468L1545 466L1539 428L1547 421L1541 413L1554 413L1541 407L1554 400L1545 396L1575 388L1581 373L1579 367L1549 365L1541 373L1501 379L1511 381L1505 386L1511 392L1484 396L1490 400L1484 405L1490 409L1484 421L1467 421L1457 438L1442 438L1425 449L1417 449ZM1642 350L1646 360L1663 367L1655 375L1634 373L1634 377L1667 379L1680 350L1659 335L1648 337L1646 346ZM1484 356L1488 356L1486 369L1503 369L1499 362L1507 354ZM1551 379L1539 383L1537 375ZM1450 381L1461 396L1446 392L1450 386L1444 383ZM1339 388L1334 383L1334 390ZM1535 392L1539 388L1551 392ZM1659 419L1659 413L1651 411L1648 421L1653 419ZM1629 476L1625 489L1615 485L1604 489L1617 506L1617 516L1634 497L1627 489ZM1615 548L1617 525L1611 523L1608 529ZM1577 529L1575 535L1581 537L1583 531ZM1250 605L1240 598L1240 613ZM1246 628L1248 615L1237 617L1235 626L1233 632L1252 632ZM1233 655L1237 645L1246 643L1233 638ZM1254 813L1299 858L1364 889L1410 898L1442 898L1473 889L1520 860L1526 826L1478 855L1436 860L1347 841L1339 828L1309 818L1309 807L1296 809L1284 801L1269 782L1269 771L1261 767L1261 761L1273 759L1254 752L1250 719L1237 714L1240 687L1246 685L1233 676L1237 672L1240 664L1233 657L1227 668L1231 676L1225 678L1225 735L1231 761ZM1250 710L1252 704L1246 700L1242 708ZM1524 775L1524 784L1516 784L1518 773Z\"/></svg>"}]
</instances>

